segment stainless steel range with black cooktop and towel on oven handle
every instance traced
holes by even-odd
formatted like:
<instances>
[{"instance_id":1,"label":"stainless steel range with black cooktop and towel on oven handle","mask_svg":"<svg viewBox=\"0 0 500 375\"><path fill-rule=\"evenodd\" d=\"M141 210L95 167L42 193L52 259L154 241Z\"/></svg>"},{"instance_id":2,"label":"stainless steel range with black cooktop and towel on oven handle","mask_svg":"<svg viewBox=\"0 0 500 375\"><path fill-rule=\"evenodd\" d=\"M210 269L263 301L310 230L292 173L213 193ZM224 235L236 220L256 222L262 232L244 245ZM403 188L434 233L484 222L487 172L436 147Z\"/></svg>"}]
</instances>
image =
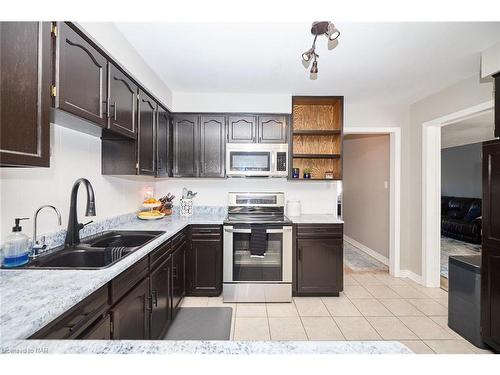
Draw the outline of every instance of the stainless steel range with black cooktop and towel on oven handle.
<instances>
[{"instance_id":1,"label":"stainless steel range with black cooktop and towel on oven handle","mask_svg":"<svg viewBox=\"0 0 500 375\"><path fill-rule=\"evenodd\" d=\"M224 302L292 300L292 222L284 193L229 193Z\"/></svg>"}]
</instances>

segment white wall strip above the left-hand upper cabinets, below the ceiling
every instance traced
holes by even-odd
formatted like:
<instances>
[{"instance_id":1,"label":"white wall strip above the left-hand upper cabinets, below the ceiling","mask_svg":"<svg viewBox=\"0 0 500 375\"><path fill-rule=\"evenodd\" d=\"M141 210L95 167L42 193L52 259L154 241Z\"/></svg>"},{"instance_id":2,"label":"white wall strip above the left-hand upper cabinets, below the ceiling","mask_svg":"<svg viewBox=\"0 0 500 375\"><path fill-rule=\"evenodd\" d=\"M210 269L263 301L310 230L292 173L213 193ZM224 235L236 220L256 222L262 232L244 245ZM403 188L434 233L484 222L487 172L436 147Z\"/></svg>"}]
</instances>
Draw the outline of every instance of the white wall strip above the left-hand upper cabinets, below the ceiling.
<instances>
[{"instance_id":1,"label":"white wall strip above the left-hand upper cabinets, below the ceiling","mask_svg":"<svg viewBox=\"0 0 500 375\"><path fill-rule=\"evenodd\" d=\"M172 91L111 22L78 22L78 25L167 106L167 109L172 109Z\"/></svg>"}]
</instances>

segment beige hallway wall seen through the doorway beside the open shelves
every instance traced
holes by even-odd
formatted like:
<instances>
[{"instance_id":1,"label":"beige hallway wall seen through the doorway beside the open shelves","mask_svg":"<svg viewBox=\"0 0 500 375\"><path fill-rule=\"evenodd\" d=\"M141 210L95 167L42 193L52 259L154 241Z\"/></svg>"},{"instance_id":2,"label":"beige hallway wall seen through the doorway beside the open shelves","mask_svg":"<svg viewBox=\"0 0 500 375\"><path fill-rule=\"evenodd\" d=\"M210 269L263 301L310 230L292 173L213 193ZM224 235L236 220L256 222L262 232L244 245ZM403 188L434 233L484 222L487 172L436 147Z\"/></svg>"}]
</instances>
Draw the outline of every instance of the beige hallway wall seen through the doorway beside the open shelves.
<instances>
[{"instance_id":1,"label":"beige hallway wall seen through the doorway beside the open shelves","mask_svg":"<svg viewBox=\"0 0 500 375\"><path fill-rule=\"evenodd\" d=\"M389 258L390 137L344 137L343 218L346 236Z\"/></svg>"}]
</instances>

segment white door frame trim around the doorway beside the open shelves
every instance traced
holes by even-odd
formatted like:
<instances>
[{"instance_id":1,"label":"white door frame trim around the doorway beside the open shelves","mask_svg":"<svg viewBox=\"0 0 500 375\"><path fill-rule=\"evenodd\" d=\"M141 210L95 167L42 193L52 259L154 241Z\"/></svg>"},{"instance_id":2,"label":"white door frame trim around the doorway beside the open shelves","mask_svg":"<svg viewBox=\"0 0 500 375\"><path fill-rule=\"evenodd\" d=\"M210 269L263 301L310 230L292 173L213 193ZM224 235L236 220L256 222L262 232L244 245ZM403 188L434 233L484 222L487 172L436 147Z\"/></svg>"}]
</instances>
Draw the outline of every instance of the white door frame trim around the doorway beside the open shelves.
<instances>
[{"instance_id":1,"label":"white door frame trim around the doorway beside the open shelves","mask_svg":"<svg viewBox=\"0 0 500 375\"><path fill-rule=\"evenodd\" d=\"M389 274L401 277L401 128L346 127L347 134L389 134Z\"/></svg>"}]
</instances>

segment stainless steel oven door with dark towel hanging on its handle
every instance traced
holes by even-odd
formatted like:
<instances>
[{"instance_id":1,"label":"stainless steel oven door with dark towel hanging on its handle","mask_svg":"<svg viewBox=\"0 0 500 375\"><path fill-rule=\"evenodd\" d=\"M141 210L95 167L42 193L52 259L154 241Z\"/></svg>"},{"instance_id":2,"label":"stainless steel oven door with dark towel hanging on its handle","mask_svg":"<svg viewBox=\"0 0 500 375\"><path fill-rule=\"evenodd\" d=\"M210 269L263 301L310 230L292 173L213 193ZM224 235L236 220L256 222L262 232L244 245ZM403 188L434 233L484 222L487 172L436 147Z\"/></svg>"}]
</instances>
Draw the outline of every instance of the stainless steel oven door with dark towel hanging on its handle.
<instances>
[{"instance_id":1,"label":"stainless steel oven door with dark towel hanging on its handle","mask_svg":"<svg viewBox=\"0 0 500 375\"><path fill-rule=\"evenodd\" d=\"M224 282L290 283L292 227L269 228L264 257L250 256L248 228L224 226Z\"/></svg>"}]
</instances>

